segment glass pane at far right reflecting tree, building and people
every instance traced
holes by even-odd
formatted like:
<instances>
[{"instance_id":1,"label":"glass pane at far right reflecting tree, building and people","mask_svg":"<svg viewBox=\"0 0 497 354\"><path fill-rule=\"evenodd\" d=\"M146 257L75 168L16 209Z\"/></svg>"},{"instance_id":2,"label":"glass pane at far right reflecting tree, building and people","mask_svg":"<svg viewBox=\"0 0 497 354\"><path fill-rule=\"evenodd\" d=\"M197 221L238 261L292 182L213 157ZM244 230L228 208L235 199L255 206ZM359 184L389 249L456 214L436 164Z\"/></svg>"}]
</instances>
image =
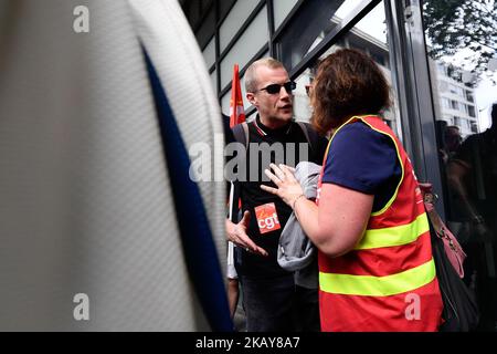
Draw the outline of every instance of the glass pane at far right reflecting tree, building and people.
<instances>
[{"instance_id":1,"label":"glass pane at far right reflecting tree, building and people","mask_svg":"<svg viewBox=\"0 0 497 354\"><path fill-rule=\"evenodd\" d=\"M468 256L484 331L497 330L496 6L425 1L423 13L447 223Z\"/></svg>"}]
</instances>

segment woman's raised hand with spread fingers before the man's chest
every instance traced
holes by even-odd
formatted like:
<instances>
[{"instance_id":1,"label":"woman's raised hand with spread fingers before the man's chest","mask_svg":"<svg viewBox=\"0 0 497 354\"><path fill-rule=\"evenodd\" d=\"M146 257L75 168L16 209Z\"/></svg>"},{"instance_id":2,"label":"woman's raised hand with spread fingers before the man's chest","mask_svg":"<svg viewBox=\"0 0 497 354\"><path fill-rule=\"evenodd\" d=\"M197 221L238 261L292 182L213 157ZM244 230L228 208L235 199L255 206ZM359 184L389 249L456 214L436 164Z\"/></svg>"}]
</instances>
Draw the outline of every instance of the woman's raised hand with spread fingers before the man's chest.
<instances>
[{"instance_id":1,"label":"woman's raised hand with spread fingers before the man's chest","mask_svg":"<svg viewBox=\"0 0 497 354\"><path fill-rule=\"evenodd\" d=\"M264 173L278 188L272 188L264 185L262 185L261 188L278 196L290 208L294 208L294 204L297 198L304 196L304 190L302 189L300 184L295 179L295 169L285 165L279 165L278 167L275 164L271 164L269 167L274 173L269 169L264 170Z\"/></svg>"}]
</instances>

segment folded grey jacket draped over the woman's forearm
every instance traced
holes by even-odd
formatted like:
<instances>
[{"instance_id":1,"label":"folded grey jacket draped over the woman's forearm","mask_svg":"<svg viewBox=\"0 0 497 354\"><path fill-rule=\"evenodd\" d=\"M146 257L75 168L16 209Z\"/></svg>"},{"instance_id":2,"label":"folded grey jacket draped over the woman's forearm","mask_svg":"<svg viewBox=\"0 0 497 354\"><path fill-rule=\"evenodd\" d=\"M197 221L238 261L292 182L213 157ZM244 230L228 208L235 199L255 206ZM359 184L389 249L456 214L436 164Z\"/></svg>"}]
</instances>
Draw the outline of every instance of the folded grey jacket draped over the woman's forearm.
<instances>
[{"instance_id":1,"label":"folded grey jacket draped over the woman's forearm","mask_svg":"<svg viewBox=\"0 0 497 354\"><path fill-rule=\"evenodd\" d=\"M315 199L321 166L302 162L295 170L295 178L300 183L307 199ZM295 283L307 289L318 288L317 250L304 233L293 212L279 237L278 264L295 272Z\"/></svg>"}]
</instances>

